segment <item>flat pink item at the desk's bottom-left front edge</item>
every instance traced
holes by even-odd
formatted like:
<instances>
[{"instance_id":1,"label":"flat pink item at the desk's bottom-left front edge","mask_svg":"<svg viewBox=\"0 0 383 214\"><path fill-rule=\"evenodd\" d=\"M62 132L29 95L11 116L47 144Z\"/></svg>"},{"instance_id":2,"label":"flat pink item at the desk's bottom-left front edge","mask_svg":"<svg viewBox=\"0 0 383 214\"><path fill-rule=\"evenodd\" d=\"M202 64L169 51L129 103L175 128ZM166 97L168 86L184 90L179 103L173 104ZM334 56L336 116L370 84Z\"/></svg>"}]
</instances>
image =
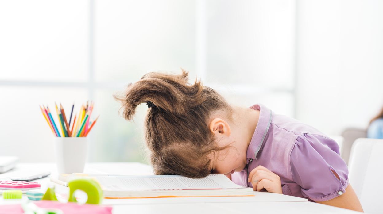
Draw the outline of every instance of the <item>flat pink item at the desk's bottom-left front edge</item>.
<instances>
[{"instance_id":1,"label":"flat pink item at the desk's bottom-left front edge","mask_svg":"<svg viewBox=\"0 0 383 214\"><path fill-rule=\"evenodd\" d=\"M112 207L99 206L93 204L61 203L57 201L36 201L34 202L41 208L61 209L64 214L111 214ZM0 214L23 214L21 204L9 204L0 206Z\"/></svg>"}]
</instances>

